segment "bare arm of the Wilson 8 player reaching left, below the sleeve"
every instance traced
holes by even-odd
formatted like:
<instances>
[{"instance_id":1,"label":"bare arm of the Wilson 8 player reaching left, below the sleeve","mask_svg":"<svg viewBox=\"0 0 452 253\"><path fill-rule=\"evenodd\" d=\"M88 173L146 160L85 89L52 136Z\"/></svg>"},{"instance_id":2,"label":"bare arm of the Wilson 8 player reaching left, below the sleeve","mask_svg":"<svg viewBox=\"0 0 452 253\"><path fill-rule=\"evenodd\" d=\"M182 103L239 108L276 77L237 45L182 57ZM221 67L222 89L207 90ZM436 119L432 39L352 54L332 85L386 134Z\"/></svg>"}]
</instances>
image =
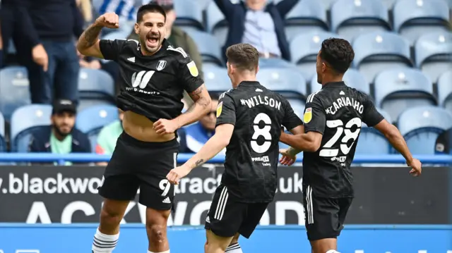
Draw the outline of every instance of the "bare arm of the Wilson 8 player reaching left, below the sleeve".
<instances>
[{"instance_id":1,"label":"bare arm of the Wilson 8 player reaching left, below the sleeve","mask_svg":"<svg viewBox=\"0 0 452 253\"><path fill-rule=\"evenodd\" d=\"M234 132L234 125L232 124L222 124L215 128L215 135L213 135L204 146L196 153L191 156L189 161L186 161L182 166L173 168L169 171L167 179L169 183L178 184L181 178L188 175L191 170L201 166L206 161L212 159L216 156L222 149L224 149L231 140L232 132Z\"/></svg>"}]
</instances>

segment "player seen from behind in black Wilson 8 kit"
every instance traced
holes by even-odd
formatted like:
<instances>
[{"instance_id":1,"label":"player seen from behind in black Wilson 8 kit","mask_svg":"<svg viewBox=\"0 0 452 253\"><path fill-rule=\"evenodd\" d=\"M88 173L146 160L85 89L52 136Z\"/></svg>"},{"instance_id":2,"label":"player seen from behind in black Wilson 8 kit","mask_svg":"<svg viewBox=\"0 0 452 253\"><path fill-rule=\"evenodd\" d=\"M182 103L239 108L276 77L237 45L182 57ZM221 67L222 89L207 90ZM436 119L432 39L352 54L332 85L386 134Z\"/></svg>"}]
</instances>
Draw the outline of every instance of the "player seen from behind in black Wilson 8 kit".
<instances>
[{"instance_id":1,"label":"player seen from behind in black Wilson 8 kit","mask_svg":"<svg viewBox=\"0 0 452 253\"><path fill-rule=\"evenodd\" d=\"M226 147L225 173L206 219L207 253L242 252L239 245L230 245L232 237L249 238L275 195L281 125L302 132L289 102L256 81L258 51L235 44L226 56L234 89L220 96L215 135L167 175L169 182L178 183Z\"/></svg>"}]
</instances>

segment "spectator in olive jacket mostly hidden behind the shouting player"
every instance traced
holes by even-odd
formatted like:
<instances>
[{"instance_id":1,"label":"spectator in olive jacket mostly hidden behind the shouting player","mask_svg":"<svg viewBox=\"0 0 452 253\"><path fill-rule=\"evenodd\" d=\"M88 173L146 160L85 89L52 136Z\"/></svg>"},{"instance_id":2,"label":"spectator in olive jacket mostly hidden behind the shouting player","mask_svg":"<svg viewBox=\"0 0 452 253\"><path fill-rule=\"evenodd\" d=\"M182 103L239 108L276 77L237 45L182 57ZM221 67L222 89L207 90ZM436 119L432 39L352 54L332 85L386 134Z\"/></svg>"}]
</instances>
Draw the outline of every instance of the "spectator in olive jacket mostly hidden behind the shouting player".
<instances>
[{"instance_id":1,"label":"spectator in olive jacket mostly hidden behind the shouting player","mask_svg":"<svg viewBox=\"0 0 452 253\"><path fill-rule=\"evenodd\" d=\"M228 0L229 1L229 0ZM158 4L162 6L167 14L167 37L169 43L171 43L174 47L182 47L184 51L193 59L196 63L196 66L199 70L199 75L203 78L203 61L201 59L201 54L198 51L198 46L196 46L196 42L181 28L173 25L176 20L176 11L174 10L173 0L153 0L150 1L151 4ZM136 39L138 40L138 35L135 33L135 30L132 30L128 39ZM193 104L193 101L189 97L189 95L184 92L184 104L188 107Z\"/></svg>"}]
</instances>

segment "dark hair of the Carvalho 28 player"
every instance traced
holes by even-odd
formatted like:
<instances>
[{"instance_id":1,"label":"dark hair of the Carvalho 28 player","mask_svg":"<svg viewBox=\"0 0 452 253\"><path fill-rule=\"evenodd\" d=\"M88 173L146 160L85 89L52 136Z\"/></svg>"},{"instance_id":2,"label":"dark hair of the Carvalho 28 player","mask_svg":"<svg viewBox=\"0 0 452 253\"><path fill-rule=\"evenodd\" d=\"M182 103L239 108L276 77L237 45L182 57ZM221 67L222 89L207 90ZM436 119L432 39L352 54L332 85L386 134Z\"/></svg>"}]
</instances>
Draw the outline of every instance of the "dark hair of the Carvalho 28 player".
<instances>
[{"instance_id":1,"label":"dark hair of the Carvalho 28 player","mask_svg":"<svg viewBox=\"0 0 452 253\"><path fill-rule=\"evenodd\" d=\"M343 74L350 68L355 51L352 45L345 39L330 38L322 42L320 58L339 74Z\"/></svg>"}]
</instances>

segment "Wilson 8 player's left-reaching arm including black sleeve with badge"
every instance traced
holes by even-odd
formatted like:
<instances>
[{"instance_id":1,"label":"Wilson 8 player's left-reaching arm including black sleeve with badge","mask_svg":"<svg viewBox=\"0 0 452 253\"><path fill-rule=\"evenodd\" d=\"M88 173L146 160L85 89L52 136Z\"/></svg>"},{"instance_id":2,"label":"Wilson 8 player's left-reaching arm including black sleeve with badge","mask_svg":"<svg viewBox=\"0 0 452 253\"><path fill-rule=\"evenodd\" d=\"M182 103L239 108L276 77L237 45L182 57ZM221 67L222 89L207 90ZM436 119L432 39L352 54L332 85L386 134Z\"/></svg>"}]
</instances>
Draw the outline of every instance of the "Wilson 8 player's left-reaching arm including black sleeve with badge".
<instances>
[{"instance_id":1,"label":"Wilson 8 player's left-reaching arm including black sleeve with badge","mask_svg":"<svg viewBox=\"0 0 452 253\"><path fill-rule=\"evenodd\" d=\"M217 108L217 127L215 134L204 144L204 146L191 156L182 166L172 169L167 175L170 183L177 184L181 178L184 178L191 170L216 156L222 149L229 144L235 125L235 106L234 101L227 95L222 97Z\"/></svg>"}]
</instances>

